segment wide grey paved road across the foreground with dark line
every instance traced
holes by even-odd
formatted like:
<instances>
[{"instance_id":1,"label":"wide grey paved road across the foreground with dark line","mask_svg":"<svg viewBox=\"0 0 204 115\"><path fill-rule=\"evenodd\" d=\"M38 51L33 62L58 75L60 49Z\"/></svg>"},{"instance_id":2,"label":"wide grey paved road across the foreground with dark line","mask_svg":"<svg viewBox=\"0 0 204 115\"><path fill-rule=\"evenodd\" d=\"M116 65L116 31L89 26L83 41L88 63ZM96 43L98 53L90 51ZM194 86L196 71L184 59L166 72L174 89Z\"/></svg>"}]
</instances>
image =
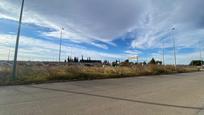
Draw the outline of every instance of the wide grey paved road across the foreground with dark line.
<instances>
[{"instance_id":1,"label":"wide grey paved road across the foreground with dark line","mask_svg":"<svg viewBox=\"0 0 204 115\"><path fill-rule=\"evenodd\" d=\"M202 115L202 110L204 72L0 87L0 115Z\"/></svg>"}]
</instances>

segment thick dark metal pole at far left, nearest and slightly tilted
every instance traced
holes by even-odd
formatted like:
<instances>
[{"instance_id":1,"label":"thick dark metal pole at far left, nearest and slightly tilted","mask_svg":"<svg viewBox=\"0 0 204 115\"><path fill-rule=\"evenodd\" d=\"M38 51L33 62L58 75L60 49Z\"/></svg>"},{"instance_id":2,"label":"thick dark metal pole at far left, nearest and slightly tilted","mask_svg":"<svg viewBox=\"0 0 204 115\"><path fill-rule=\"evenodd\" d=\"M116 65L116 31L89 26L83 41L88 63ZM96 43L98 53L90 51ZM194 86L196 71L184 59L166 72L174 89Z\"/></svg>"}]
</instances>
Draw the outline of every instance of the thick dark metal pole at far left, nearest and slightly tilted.
<instances>
[{"instance_id":1,"label":"thick dark metal pole at far left, nearest and slightly tilted","mask_svg":"<svg viewBox=\"0 0 204 115\"><path fill-rule=\"evenodd\" d=\"M16 79L16 61L17 61L17 55L18 55L19 38L20 38L20 33L21 33L21 22L22 22L22 17L23 17L23 7L24 7L24 0L22 0L22 4L21 4L21 12L20 12L20 18L19 18L19 24L18 24L18 33L17 33L17 37L16 37L16 47L15 47L15 54L14 54L14 61L13 61L13 72L12 72L13 80Z\"/></svg>"}]
</instances>

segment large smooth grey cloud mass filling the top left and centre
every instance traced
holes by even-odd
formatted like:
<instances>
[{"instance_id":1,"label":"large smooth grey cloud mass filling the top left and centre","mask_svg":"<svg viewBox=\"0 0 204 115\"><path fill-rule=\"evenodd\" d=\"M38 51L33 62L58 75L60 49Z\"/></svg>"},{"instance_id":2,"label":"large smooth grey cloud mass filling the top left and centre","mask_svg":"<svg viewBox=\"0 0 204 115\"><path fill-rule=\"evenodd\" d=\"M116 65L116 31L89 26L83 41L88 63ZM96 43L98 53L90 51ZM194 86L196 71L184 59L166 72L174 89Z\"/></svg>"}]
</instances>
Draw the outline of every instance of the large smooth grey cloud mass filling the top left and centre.
<instances>
[{"instance_id":1,"label":"large smooth grey cloud mass filling the top left and centre","mask_svg":"<svg viewBox=\"0 0 204 115\"><path fill-rule=\"evenodd\" d=\"M23 21L58 30L63 26L70 39L108 42L127 32L137 22L142 4L139 0L27 0ZM18 17L18 0L3 0L0 5L2 11L11 12L0 12L2 15ZM9 8L12 10L8 11Z\"/></svg>"}]
</instances>

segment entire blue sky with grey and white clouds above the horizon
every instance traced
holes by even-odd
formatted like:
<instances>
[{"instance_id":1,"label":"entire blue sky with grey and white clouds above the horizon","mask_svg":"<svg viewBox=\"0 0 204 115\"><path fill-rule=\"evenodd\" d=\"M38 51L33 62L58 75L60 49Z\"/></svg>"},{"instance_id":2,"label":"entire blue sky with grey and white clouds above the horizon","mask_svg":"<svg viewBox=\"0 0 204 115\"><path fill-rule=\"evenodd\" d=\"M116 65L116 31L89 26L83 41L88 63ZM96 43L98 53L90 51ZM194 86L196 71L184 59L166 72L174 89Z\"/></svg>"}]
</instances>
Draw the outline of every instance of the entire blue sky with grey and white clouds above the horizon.
<instances>
[{"instance_id":1,"label":"entire blue sky with grey and white clouds above the horizon","mask_svg":"<svg viewBox=\"0 0 204 115\"><path fill-rule=\"evenodd\" d=\"M67 56L178 64L204 57L203 0L25 0L18 60ZM21 0L0 0L0 60L13 60ZM62 30L61 28L64 28ZM175 28L173 30L172 28Z\"/></svg>"}]
</instances>

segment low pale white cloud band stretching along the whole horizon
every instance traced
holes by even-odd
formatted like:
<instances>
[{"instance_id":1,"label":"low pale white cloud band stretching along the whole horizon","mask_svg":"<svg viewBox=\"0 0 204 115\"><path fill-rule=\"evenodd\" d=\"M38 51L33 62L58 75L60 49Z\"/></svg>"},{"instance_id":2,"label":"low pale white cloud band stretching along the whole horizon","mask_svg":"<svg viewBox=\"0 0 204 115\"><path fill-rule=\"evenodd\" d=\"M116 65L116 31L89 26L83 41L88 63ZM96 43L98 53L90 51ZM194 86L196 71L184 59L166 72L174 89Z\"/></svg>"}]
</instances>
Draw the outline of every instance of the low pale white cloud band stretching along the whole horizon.
<instances>
[{"instance_id":1,"label":"low pale white cloud band stretching along the whole horizon","mask_svg":"<svg viewBox=\"0 0 204 115\"><path fill-rule=\"evenodd\" d=\"M11 50L10 59L13 59L14 52L14 42L16 36L1 34L0 35L0 60L5 60L8 58L9 48ZM22 36L20 39L20 48L18 59L19 60L43 60L43 61L57 61L58 60L58 51L59 45L55 43L50 43L47 41L39 40L36 38L30 38ZM74 57L81 57L82 55L86 57L91 57L92 59L101 59L101 60L115 60L115 59L127 59L130 56L140 55L143 53L138 50L127 50L124 54L112 54L98 52L94 50L89 50L81 46L70 45L62 46L62 60L65 59L68 55ZM194 52L189 53L177 53L178 64L188 64L193 59L200 59L199 49ZM203 53L204 54L204 53ZM149 61L152 57L157 60L162 60L162 52L152 53L149 58L140 57L140 60ZM173 64L173 52L165 51L165 63Z\"/></svg>"}]
</instances>

